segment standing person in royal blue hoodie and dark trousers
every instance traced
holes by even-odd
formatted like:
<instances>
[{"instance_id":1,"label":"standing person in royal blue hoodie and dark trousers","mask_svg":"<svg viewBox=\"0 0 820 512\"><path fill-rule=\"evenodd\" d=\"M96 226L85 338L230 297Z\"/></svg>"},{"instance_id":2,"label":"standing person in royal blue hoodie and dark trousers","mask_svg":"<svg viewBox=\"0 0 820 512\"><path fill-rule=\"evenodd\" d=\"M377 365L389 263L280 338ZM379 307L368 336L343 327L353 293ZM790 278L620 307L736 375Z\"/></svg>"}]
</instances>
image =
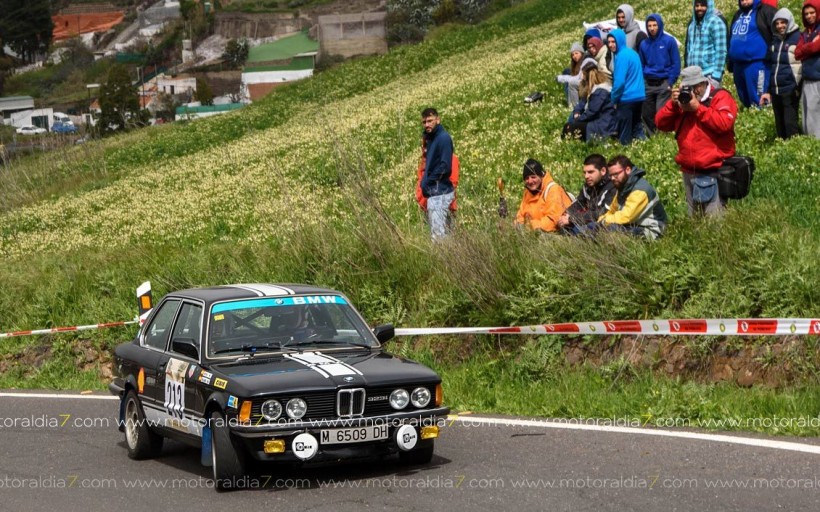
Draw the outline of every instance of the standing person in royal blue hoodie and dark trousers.
<instances>
[{"instance_id":1,"label":"standing person in royal blue hoodie and dark trousers","mask_svg":"<svg viewBox=\"0 0 820 512\"><path fill-rule=\"evenodd\" d=\"M672 86L680 76L680 54L678 42L664 32L660 14L646 17L646 31L649 37L641 43L638 54L646 88L642 117L647 135L652 135L655 133L655 114L672 95Z\"/></svg>"}]
</instances>

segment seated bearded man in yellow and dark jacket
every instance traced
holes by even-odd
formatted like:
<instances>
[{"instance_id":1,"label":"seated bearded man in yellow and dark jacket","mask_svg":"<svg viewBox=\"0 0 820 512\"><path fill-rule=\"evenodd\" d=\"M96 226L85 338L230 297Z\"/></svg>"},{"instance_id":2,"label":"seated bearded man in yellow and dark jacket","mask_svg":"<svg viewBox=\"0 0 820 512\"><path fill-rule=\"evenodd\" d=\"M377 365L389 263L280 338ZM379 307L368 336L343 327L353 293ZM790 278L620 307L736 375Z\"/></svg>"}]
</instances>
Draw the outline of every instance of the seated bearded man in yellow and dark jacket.
<instances>
[{"instance_id":1,"label":"seated bearded man in yellow and dark jacket","mask_svg":"<svg viewBox=\"0 0 820 512\"><path fill-rule=\"evenodd\" d=\"M646 171L636 168L624 155L610 159L607 169L617 192L598 223L610 231L625 231L649 240L663 235L666 210L655 188L644 178Z\"/></svg>"}]
</instances>

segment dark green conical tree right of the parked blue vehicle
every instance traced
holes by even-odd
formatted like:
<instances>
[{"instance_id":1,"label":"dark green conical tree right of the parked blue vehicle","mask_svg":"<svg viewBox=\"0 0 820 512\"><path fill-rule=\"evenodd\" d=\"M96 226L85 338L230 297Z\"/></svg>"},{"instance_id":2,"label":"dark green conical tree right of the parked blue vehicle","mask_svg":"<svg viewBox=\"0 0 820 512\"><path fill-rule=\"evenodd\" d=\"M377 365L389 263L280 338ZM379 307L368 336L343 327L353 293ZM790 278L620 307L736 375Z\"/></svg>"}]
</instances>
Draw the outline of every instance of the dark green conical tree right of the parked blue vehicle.
<instances>
[{"instance_id":1,"label":"dark green conical tree right of the parked blue vehicle","mask_svg":"<svg viewBox=\"0 0 820 512\"><path fill-rule=\"evenodd\" d=\"M115 64L100 87L99 125L103 133L119 128L128 129L141 119L137 86L131 83L128 68Z\"/></svg>"}]
</instances>

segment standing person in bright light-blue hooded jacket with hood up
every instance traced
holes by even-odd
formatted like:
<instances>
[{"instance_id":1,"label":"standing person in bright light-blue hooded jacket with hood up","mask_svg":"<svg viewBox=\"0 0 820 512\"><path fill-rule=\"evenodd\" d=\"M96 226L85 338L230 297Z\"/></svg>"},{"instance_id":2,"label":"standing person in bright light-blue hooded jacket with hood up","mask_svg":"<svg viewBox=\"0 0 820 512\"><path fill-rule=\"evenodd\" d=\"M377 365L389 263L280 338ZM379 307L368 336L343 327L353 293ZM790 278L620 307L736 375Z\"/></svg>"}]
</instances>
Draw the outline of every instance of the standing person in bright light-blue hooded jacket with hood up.
<instances>
[{"instance_id":1,"label":"standing person in bright light-blue hooded jacket with hood up","mask_svg":"<svg viewBox=\"0 0 820 512\"><path fill-rule=\"evenodd\" d=\"M624 146L632 139L644 139L641 110L646 98L643 69L638 53L626 44L626 34L616 28L606 36L609 51L615 56L612 73L612 93L618 138Z\"/></svg>"}]
</instances>

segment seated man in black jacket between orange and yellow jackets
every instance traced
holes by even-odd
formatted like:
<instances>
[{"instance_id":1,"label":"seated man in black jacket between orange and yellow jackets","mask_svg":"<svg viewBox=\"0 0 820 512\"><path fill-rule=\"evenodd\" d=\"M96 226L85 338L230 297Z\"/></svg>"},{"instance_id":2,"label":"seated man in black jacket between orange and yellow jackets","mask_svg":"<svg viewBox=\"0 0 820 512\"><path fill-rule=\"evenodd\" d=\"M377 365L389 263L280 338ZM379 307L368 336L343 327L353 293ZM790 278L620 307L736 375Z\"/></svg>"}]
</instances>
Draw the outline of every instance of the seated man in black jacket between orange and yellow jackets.
<instances>
[{"instance_id":1,"label":"seated man in black jacket between orange and yellow jackets","mask_svg":"<svg viewBox=\"0 0 820 512\"><path fill-rule=\"evenodd\" d=\"M575 201L558 219L558 227L579 234L584 226L595 223L606 213L615 198L615 184L609 179L606 158L593 153L584 159L584 186Z\"/></svg>"}]
</instances>

